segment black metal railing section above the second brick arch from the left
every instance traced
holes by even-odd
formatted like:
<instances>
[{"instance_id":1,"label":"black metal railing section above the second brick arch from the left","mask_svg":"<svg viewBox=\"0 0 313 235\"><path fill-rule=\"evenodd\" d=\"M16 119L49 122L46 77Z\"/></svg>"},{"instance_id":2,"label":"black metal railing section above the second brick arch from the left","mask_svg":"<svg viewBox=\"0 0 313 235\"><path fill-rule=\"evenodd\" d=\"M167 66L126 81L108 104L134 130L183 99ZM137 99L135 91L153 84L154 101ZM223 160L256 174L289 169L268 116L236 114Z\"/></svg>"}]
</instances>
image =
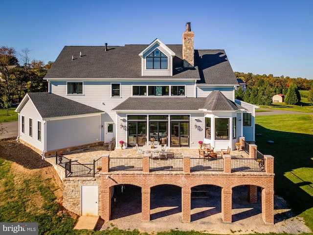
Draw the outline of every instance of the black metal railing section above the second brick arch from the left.
<instances>
[{"instance_id":1,"label":"black metal railing section above the second brick arch from the left","mask_svg":"<svg viewBox=\"0 0 313 235\"><path fill-rule=\"evenodd\" d=\"M183 170L183 158L150 158L150 171Z\"/></svg>"}]
</instances>

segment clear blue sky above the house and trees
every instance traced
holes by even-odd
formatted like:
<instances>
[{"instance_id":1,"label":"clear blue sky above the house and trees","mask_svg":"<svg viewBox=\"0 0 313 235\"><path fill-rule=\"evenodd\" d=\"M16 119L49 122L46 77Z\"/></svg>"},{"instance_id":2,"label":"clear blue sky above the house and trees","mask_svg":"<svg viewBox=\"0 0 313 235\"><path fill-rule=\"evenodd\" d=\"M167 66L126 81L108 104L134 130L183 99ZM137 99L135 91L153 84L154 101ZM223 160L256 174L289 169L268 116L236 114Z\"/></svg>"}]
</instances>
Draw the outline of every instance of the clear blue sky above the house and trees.
<instances>
[{"instance_id":1,"label":"clear blue sky above the house and trees","mask_svg":"<svg viewBox=\"0 0 313 235\"><path fill-rule=\"evenodd\" d=\"M224 49L233 71L313 79L312 0L4 0L0 47L55 61L64 46L181 44ZM5 9L5 10L4 10Z\"/></svg>"}]
</instances>

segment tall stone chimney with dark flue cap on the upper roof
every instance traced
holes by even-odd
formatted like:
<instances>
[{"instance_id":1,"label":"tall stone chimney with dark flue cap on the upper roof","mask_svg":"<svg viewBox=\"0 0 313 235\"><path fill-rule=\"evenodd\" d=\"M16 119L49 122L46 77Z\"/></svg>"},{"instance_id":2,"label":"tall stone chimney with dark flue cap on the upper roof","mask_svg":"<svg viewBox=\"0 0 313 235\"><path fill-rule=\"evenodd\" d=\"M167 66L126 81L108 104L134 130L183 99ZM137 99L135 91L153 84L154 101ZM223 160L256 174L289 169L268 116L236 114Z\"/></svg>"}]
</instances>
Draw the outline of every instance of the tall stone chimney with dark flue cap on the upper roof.
<instances>
[{"instance_id":1,"label":"tall stone chimney with dark flue cap on the upper roof","mask_svg":"<svg viewBox=\"0 0 313 235\"><path fill-rule=\"evenodd\" d=\"M190 22L187 22L186 31L182 34L182 59L185 68L195 65L194 35L195 33L190 29Z\"/></svg>"}]
</instances>

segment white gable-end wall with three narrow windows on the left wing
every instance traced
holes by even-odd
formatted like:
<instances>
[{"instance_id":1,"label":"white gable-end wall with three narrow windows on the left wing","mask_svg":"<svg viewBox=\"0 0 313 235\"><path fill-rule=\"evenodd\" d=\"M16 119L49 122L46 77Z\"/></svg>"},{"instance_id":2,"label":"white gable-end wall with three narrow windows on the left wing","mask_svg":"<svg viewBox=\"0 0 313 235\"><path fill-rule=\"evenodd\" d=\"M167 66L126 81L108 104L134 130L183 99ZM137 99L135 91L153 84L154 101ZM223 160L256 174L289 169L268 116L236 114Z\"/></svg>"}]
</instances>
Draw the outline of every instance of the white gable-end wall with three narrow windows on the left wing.
<instances>
[{"instance_id":1,"label":"white gable-end wall with three narrow windows on the left wing","mask_svg":"<svg viewBox=\"0 0 313 235\"><path fill-rule=\"evenodd\" d=\"M24 124L24 133L22 133L22 116L25 117L25 124ZM32 137L29 136L29 118L33 119L33 135ZM31 100L28 100L24 107L22 108L20 112L20 139L29 143L30 145L43 150L44 149L44 144L43 144L43 137L44 137L44 125L41 116L39 115L37 109L31 102ZM38 126L37 126L37 121L41 121L41 136L42 136L42 141L38 141Z\"/></svg>"}]
</instances>

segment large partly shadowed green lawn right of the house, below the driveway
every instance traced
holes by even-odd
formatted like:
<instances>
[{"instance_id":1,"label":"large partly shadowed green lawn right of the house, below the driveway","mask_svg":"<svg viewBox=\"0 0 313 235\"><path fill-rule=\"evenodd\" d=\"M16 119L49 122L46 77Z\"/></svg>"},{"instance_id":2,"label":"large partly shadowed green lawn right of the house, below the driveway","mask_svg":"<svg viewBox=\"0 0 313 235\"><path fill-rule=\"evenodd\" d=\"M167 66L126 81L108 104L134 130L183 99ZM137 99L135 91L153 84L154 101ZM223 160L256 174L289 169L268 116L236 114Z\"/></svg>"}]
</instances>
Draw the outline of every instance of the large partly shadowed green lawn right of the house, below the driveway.
<instances>
[{"instance_id":1,"label":"large partly shadowed green lawn right of the house, below the driveway","mask_svg":"<svg viewBox=\"0 0 313 235\"><path fill-rule=\"evenodd\" d=\"M258 150L274 156L275 194L313 230L313 121L310 115L257 116ZM269 144L267 141L274 141Z\"/></svg>"}]
</instances>

